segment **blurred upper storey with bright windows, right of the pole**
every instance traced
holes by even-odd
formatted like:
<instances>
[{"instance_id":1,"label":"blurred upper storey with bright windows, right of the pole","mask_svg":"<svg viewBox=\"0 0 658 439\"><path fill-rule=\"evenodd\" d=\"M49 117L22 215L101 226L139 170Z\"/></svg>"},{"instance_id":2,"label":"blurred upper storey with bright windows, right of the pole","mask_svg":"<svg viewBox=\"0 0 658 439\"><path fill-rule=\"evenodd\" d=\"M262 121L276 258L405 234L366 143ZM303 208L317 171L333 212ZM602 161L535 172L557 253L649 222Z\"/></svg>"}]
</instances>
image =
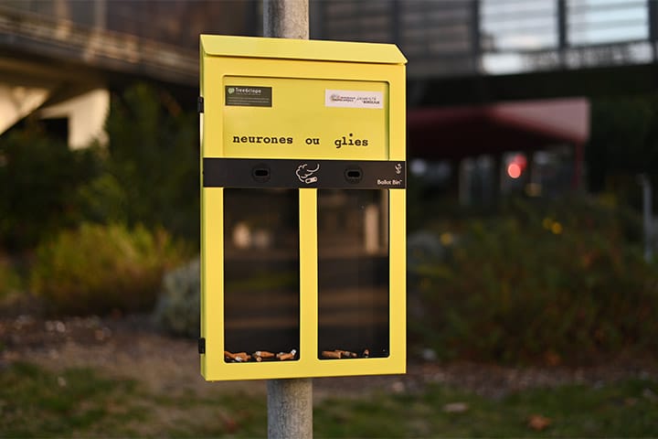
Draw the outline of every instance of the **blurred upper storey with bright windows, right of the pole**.
<instances>
[{"instance_id":1,"label":"blurred upper storey with bright windows, right of the pole","mask_svg":"<svg viewBox=\"0 0 658 439\"><path fill-rule=\"evenodd\" d=\"M345 0L317 2L312 36L396 42L409 79L651 63L651 0Z\"/></svg>"}]
</instances>

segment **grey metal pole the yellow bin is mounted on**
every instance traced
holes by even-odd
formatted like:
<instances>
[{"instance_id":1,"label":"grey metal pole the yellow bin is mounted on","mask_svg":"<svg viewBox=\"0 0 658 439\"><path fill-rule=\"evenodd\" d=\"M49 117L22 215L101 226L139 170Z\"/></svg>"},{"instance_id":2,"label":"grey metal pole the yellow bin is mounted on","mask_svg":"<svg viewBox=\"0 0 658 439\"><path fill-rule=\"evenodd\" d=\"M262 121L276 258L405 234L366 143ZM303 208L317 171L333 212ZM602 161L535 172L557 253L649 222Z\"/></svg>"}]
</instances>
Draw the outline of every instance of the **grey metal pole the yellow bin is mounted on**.
<instances>
[{"instance_id":1,"label":"grey metal pole the yellow bin is mounted on","mask_svg":"<svg viewBox=\"0 0 658 439\"><path fill-rule=\"evenodd\" d=\"M263 0L263 36L308 39L308 9L308 0ZM268 380L267 388L268 437L313 437L313 380Z\"/></svg>"}]
</instances>

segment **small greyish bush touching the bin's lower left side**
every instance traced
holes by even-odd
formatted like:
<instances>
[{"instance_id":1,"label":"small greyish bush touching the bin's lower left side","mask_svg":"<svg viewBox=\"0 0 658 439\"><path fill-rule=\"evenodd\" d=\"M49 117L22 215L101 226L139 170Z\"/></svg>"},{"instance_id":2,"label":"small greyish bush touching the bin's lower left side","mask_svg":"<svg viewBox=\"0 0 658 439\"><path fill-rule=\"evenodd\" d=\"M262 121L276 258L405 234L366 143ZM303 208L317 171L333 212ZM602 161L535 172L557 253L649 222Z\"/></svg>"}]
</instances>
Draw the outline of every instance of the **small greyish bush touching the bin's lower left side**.
<instances>
[{"instance_id":1,"label":"small greyish bush touching the bin's lower left side","mask_svg":"<svg viewBox=\"0 0 658 439\"><path fill-rule=\"evenodd\" d=\"M154 311L156 325L176 336L198 337L200 294L198 259L166 273Z\"/></svg>"}]
</instances>

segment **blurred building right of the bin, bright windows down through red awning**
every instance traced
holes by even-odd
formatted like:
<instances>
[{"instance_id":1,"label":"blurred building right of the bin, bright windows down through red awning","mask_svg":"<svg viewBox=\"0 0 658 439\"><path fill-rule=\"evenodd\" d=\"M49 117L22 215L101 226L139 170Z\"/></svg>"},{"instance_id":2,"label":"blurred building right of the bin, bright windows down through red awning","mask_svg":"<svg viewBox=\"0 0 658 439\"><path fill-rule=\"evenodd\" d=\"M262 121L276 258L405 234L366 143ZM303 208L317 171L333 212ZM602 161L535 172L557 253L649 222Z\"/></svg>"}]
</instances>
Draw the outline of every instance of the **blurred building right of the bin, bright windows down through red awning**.
<instances>
[{"instance_id":1,"label":"blurred building right of the bin, bright windows down through red awning","mask_svg":"<svg viewBox=\"0 0 658 439\"><path fill-rule=\"evenodd\" d=\"M486 204L501 192L579 187L589 137L584 97L656 87L657 7L652 0L322 2L312 34L396 42L409 59L409 155L418 159L411 170L459 187L453 194L462 203Z\"/></svg>"}]
</instances>

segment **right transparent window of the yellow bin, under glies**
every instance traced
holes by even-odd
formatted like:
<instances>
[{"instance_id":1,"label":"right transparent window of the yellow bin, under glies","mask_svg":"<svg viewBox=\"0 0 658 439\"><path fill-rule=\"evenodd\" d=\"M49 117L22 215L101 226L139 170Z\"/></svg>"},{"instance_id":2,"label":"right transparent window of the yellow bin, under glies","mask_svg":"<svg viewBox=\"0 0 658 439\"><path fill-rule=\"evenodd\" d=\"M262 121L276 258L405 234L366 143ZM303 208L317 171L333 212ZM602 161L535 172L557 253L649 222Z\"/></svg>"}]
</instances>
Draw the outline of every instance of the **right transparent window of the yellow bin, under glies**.
<instances>
[{"instance_id":1,"label":"right transparent window of the yellow bin, under glies","mask_svg":"<svg viewBox=\"0 0 658 439\"><path fill-rule=\"evenodd\" d=\"M318 191L318 358L388 356L388 191Z\"/></svg>"}]
</instances>

